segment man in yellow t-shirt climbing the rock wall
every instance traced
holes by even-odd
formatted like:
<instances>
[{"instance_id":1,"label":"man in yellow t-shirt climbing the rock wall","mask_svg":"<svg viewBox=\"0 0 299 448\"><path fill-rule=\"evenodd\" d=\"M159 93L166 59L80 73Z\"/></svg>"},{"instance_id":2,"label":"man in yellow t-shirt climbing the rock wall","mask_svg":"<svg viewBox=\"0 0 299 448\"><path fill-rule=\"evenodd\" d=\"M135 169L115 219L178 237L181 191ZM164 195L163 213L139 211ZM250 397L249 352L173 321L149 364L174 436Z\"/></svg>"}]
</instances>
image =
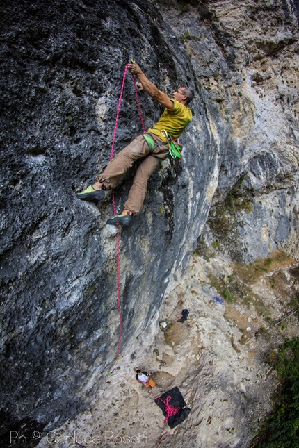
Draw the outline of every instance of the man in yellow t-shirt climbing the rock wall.
<instances>
[{"instance_id":1,"label":"man in yellow t-shirt climbing the rock wall","mask_svg":"<svg viewBox=\"0 0 299 448\"><path fill-rule=\"evenodd\" d=\"M191 110L187 107L193 99L191 89L180 87L173 92L171 99L149 81L136 63L129 64L128 69L139 79L138 87L164 106L165 110L153 128L137 137L116 154L104 172L97 176L93 185L89 185L86 190L76 194L76 197L86 201L102 200L104 191L114 188L134 162L142 158L128 199L124 204L124 210L107 221L107 224L115 226L118 224L129 225L132 215L137 215L140 212L145 200L149 177L158 167L160 161L168 157L169 140L177 140L192 120Z\"/></svg>"}]
</instances>

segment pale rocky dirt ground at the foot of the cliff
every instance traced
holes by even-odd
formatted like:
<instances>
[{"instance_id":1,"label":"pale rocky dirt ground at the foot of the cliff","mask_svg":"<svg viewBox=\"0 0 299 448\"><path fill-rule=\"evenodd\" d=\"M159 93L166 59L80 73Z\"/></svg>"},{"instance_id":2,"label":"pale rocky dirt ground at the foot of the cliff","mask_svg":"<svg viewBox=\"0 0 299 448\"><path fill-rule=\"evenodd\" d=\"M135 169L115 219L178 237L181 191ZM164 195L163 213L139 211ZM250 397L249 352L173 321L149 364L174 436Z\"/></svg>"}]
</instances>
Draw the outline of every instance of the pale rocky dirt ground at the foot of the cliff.
<instances>
[{"instance_id":1,"label":"pale rocky dirt ground at the foot of the cliff","mask_svg":"<svg viewBox=\"0 0 299 448\"><path fill-rule=\"evenodd\" d=\"M233 301L225 300L212 285L211 275L218 272L222 283L226 276L250 288L252 303L236 293ZM152 332L122 351L92 406L47 434L38 447L247 446L270 410L277 384L269 361L273 349L298 335L296 308L290 305L298 280L294 260L273 263L250 281L237 272L227 260L193 256L184 276L168 288ZM183 309L188 318L177 322ZM137 368L149 372L154 388L136 381ZM170 429L154 399L175 386L192 410Z\"/></svg>"}]
</instances>

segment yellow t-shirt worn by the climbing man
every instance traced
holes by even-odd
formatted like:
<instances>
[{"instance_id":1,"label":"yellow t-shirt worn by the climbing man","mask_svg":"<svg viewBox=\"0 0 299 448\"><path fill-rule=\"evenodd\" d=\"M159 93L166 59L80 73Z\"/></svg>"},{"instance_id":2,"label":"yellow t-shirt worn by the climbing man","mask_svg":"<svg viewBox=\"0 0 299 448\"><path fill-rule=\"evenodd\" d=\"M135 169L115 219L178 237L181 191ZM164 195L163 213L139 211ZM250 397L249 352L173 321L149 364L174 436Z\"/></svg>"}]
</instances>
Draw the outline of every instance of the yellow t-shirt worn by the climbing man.
<instances>
[{"instance_id":1,"label":"yellow t-shirt worn by the climbing man","mask_svg":"<svg viewBox=\"0 0 299 448\"><path fill-rule=\"evenodd\" d=\"M192 120L192 112L187 106L179 103L176 99L171 99L171 101L173 101L173 109L165 109L159 122L149 129L149 132L158 135L164 142L167 140L159 131L167 131L172 140L177 140Z\"/></svg>"}]
</instances>

